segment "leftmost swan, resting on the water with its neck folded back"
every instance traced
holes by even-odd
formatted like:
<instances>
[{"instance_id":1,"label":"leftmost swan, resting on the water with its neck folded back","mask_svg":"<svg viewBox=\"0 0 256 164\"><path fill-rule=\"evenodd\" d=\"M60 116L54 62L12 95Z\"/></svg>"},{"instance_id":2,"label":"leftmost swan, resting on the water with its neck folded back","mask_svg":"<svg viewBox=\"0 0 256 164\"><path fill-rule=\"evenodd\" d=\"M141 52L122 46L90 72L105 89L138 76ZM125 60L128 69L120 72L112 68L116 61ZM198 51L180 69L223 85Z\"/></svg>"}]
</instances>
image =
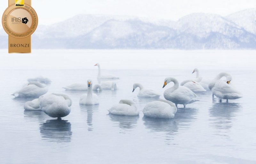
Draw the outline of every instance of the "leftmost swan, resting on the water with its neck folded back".
<instances>
[{"instance_id":1,"label":"leftmost swan, resting on the water with its neck folded back","mask_svg":"<svg viewBox=\"0 0 256 164\"><path fill-rule=\"evenodd\" d=\"M48 91L45 84L40 82L29 82L20 90L14 92L12 95L15 97L39 97Z\"/></svg>"}]
</instances>

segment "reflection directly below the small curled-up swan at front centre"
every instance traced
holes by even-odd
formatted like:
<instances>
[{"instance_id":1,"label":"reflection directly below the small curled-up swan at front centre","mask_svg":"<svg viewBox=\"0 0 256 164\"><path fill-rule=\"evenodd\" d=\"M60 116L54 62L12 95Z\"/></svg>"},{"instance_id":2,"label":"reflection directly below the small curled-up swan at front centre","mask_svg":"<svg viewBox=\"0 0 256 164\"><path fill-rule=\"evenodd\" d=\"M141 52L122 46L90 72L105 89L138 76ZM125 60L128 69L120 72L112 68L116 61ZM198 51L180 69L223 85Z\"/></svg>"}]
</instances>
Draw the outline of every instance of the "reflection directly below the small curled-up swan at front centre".
<instances>
[{"instance_id":1,"label":"reflection directly below the small curled-up swan at front centre","mask_svg":"<svg viewBox=\"0 0 256 164\"><path fill-rule=\"evenodd\" d=\"M110 120L113 122L117 122L117 126L121 129L132 129L136 127L137 122L140 118L140 116L121 116L121 115L115 115L109 113L108 116L110 117Z\"/></svg>"}]
</instances>

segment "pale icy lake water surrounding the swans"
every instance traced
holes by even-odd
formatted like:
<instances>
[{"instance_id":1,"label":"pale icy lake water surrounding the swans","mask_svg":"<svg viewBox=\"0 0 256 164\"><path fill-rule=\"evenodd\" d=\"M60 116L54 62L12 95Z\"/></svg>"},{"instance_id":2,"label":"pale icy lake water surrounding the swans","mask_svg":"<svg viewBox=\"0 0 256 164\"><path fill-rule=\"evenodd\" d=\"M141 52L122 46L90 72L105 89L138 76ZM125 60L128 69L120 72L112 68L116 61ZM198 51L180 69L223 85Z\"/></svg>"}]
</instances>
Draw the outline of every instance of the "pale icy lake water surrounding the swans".
<instances>
[{"instance_id":1,"label":"pale icy lake water surrounding the swans","mask_svg":"<svg viewBox=\"0 0 256 164\"><path fill-rule=\"evenodd\" d=\"M256 51L173 50L35 50L33 54L7 54L0 61L0 163L256 163L255 80ZM99 62L102 74L111 73L118 90L95 92L99 105L79 105L86 92L62 89L91 78L96 83ZM233 76L232 85L243 98L228 103L200 95L199 102L179 105L174 119L153 119L108 114L120 99L136 102L140 110L154 99L138 98L139 82L163 94L166 77L179 82L220 72ZM30 99L11 94L27 78L43 75L52 80L49 91L73 100L71 113L57 120L42 111L24 111ZM163 96L161 96L163 98Z\"/></svg>"}]
</instances>

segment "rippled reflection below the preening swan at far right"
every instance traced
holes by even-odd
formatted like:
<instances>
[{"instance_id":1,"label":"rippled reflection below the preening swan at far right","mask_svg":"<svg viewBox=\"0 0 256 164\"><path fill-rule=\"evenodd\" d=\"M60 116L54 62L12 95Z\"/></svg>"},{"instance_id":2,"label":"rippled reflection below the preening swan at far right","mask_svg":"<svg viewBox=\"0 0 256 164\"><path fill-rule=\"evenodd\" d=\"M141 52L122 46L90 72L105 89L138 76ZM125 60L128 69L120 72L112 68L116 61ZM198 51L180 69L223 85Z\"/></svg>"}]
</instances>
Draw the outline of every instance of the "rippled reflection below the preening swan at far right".
<instances>
[{"instance_id":1,"label":"rippled reflection below the preening swan at far right","mask_svg":"<svg viewBox=\"0 0 256 164\"><path fill-rule=\"evenodd\" d=\"M209 109L210 120L212 121L210 126L217 129L218 135L221 130L226 132L227 129L232 127L232 120L235 119L236 112L240 108L239 103L214 103L212 108Z\"/></svg>"}]
</instances>

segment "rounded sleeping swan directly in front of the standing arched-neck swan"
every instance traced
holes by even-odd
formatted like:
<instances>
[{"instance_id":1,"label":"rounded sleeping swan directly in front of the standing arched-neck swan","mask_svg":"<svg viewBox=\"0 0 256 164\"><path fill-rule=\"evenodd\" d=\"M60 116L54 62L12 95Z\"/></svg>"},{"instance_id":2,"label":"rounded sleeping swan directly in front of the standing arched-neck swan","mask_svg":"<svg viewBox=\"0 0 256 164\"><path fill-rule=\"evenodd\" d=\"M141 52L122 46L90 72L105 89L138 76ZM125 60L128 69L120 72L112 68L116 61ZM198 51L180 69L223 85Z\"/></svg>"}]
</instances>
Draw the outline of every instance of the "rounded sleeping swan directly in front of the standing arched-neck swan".
<instances>
[{"instance_id":1,"label":"rounded sleeping swan directly in front of the standing arched-neck swan","mask_svg":"<svg viewBox=\"0 0 256 164\"><path fill-rule=\"evenodd\" d=\"M159 99L148 103L142 112L145 116L151 118L174 118L177 107L170 101Z\"/></svg>"}]
</instances>

